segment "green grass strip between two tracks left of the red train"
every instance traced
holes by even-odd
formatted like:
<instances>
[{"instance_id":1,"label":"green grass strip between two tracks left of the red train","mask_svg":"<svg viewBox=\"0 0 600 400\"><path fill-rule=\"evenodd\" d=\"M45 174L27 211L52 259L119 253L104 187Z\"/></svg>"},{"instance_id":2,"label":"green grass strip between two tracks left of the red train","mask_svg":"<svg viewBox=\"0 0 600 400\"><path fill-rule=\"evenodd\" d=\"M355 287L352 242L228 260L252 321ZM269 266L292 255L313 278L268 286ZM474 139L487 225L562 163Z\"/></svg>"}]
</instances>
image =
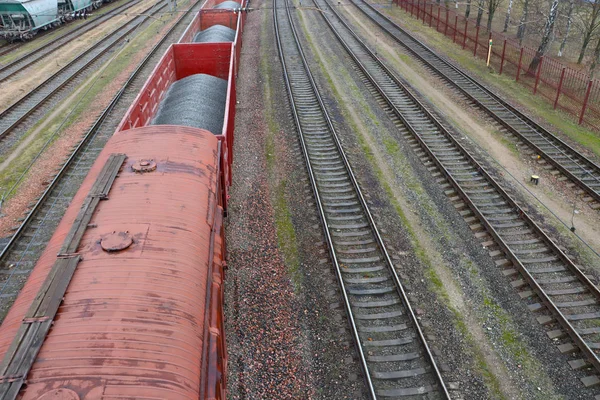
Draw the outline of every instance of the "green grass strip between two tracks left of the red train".
<instances>
[{"instance_id":1,"label":"green grass strip between two tracks left of the red train","mask_svg":"<svg viewBox=\"0 0 600 400\"><path fill-rule=\"evenodd\" d=\"M4 169L4 171L0 172L0 188L2 188L2 192L9 190L17 182L19 176L21 176L21 174L29 167L32 160L42 150L47 141L50 140L51 147L51 145L58 140L70 126L78 122L79 118L87 112L96 97L105 90L105 85L110 84L117 78L117 76L131 63L131 58L141 51L152 36L156 35L156 29L160 29L162 24L162 20L152 22L145 30L141 31L130 41L121 54L112 59L112 62L102 71L100 78L97 80L88 80L83 83L82 86L79 87L82 88L82 91L80 92L79 97L74 101L77 102L74 107L66 107L52 119L50 119L50 117L41 118L17 143L13 145L12 148L15 149L29 137L36 128L44 123L49 124L28 144L21 154ZM50 113L52 113L52 111L50 111L49 114ZM62 127L60 127L61 124L63 124ZM0 162L6 160L7 157L8 156L4 156L0 159ZM18 194L18 190L14 190L7 199L12 198L16 194Z\"/></svg>"}]
</instances>

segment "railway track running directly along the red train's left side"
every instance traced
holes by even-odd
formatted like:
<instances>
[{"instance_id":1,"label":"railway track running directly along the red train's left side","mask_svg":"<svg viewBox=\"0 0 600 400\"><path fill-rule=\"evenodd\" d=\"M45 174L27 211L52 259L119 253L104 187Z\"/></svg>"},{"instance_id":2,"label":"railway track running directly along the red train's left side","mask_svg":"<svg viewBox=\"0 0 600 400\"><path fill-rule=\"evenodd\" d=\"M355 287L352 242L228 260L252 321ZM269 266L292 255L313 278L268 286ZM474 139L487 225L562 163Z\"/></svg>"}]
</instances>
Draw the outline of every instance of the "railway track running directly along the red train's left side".
<instances>
[{"instance_id":1,"label":"railway track running directly along the red train's left side","mask_svg":"<svg viewBox=\"0 0 600 400\"><path fill-rule=\"evenodd\" d=\"M176 32L176 29L181 27L182 24L184 27L189 24L190 17L200 7L200 3L201 0L197 0L190 5L186 13L181 14L163 39L152 48L142 63L131 74L110 105L102 112L81 142L74 148L71 156L58 170L55 178L50 182L38 201L31 205L31 210L6 246L3 247L0 252L0 323L4 320L8 309L54 234L54 230L62 219L69 202L79 189L90 167L103 149L104 144L113 135L116 123L110 125L109 120L115 118L109 118L109 116L115 112L117 105L125 103L123 105L125 107L131 102L131 97L134 97L135 93L139 91L138 81L142 79L141 75L145 67L151 64L153 57L164 53L166 46L171 43L168 38L174 37L175 40L178 38L180 32Z\"/></svg>"}]
</instances>

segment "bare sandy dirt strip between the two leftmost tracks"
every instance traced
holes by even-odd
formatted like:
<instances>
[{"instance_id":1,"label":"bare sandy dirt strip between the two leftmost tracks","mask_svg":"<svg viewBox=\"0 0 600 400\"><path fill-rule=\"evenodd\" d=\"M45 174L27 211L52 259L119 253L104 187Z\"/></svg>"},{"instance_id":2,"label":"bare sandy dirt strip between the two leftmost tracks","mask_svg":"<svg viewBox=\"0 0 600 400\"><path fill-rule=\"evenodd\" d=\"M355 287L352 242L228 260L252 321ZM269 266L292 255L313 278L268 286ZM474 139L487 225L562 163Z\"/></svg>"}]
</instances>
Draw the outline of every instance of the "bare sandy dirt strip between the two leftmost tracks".
<instances>
[{"instance_id":1,"label":"bare sandy dirt strip between the two leftmost tracks","mask_svg":"<svg viewBox=\"0 0 600 400\"><path fill-rule=\"evenodd\" d=\"M0 91L0 110L5 110L11 104L17 102L31 89L71 62L78 54L99 42L109 33L114 32L117 27L136 18L137 13L141 13L156 2L156 0L144 0L140 2L140 4L132 7L131 10L128 10L127 15L117 15L95 29L79 36L68 45L61 47L58 50L60 53L59 56L49 55L41 62L24 68L14 77L3 82L3 90Z\"/></svg>"}]
</instances>

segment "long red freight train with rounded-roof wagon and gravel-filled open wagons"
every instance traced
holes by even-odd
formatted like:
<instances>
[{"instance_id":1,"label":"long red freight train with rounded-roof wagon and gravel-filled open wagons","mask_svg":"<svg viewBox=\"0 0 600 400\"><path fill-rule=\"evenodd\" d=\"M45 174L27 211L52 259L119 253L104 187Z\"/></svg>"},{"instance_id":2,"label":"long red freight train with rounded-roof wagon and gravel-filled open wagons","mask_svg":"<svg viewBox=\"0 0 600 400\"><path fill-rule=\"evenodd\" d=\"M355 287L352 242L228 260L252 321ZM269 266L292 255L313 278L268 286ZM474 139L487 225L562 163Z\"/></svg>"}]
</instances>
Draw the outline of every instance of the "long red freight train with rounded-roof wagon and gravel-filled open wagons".
<instances>
[{"instance_id":1,"label":"long red freight train with rounded-roof wagon and gravel-filled open wagons","mask_svg":"<svg viewBox=\"0 0 600 400\"><path fill-rule=\"evenodd\" d=\"M158 62L0 326L0 399L225 399L245 15L217 2Z\"/></svg>"}]
</instances>

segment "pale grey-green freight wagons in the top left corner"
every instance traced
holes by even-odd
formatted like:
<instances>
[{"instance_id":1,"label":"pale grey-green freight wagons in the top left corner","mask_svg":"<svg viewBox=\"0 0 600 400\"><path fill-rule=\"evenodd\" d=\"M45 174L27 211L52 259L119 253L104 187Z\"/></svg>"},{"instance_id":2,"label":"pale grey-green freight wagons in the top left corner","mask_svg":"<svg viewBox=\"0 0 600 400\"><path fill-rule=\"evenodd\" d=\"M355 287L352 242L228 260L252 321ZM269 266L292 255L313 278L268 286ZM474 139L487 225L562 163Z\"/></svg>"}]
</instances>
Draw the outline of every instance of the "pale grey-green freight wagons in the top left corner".
<instances>
[{"instance_id":1,"label":"pale grey-green freight wagons in the top left corner","mask_svg":"<svg viewBox=\"0 0 600 400\"><path fill-rule=\"evenodd\" d=\"M0 0L0 37L29 40L45 31L84 17L110 0Z\"/></svg>"}]
</instances>

